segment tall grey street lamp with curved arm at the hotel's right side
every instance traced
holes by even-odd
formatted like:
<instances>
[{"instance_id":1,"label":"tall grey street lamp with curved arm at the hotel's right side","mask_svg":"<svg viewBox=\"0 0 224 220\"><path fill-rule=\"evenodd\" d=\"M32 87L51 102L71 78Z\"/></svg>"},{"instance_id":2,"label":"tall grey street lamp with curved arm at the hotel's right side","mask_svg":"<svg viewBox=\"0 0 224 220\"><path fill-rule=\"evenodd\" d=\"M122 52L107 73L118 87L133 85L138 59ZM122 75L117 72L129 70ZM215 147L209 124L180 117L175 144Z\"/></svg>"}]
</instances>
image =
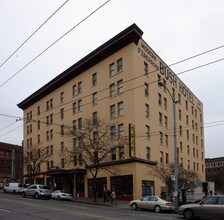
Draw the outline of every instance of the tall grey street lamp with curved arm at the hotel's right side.
<instances>
[{"instance_id":1,"label":"tall grey street lamp with curved arm at the hotel's right side","mask_svg":"<svg viewBox=\"0 0 224 220\"><path fill-rule=\"evenodd\" d=\"M169 93L172 102L173 102L173 140L174 140L174 202L175 207L178 208L178 164L177 164L177 127L176 127L176 104L178 103L178 99L170 93L169 89L165 86L165 84L161 81L158 81L159 86L163 86Z\"/></svg>"}]
</instances>

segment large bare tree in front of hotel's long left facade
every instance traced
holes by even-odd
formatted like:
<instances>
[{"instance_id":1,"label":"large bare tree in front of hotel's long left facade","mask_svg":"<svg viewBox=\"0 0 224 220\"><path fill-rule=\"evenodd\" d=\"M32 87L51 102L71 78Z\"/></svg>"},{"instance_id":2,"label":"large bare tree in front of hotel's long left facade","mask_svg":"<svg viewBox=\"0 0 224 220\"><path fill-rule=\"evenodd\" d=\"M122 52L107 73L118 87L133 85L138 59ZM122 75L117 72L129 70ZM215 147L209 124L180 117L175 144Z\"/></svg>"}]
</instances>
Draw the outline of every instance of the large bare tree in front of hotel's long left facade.
<instances>
[{"instance_id":1,"label":"large bare tree in front of hotel's long left facade","mask_svg":"<svg viewBox=\"0 0 224 220\"><path fill-rule=\"evenodd\" d=\"M110 173L118 170L111 166L112 150L126 144L123 133L118 136L114 132L116 124L104 120L87 118L82 123L82 128L68 129L67 135L73 138L73 149L66 148L64 157L66 162L78 160L83 163L93 177L94 201L96 201L96 184L99 170L104 169Z\"/></svg>"}]
</instances>

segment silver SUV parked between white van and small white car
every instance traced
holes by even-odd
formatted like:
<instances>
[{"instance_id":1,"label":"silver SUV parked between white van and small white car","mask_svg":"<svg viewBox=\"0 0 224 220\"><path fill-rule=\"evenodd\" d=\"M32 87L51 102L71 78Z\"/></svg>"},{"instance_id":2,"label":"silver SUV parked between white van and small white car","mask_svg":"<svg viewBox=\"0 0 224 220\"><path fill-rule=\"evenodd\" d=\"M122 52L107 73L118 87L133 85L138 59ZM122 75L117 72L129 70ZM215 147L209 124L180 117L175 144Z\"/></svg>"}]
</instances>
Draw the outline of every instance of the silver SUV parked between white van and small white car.
<instances>
[{"instance_id":1,"label":"silver SUV parked between white van and small white car","mask_svg":"<svg viewBox=\"0 0 224 220\"><path fill-rule=\"evenodd\" d=\"M51 198L51 189L49 186L33 184L22 192L23 197L33 196L35 199L44 197L46 199Z\"/></svg>"}]
</instances>

